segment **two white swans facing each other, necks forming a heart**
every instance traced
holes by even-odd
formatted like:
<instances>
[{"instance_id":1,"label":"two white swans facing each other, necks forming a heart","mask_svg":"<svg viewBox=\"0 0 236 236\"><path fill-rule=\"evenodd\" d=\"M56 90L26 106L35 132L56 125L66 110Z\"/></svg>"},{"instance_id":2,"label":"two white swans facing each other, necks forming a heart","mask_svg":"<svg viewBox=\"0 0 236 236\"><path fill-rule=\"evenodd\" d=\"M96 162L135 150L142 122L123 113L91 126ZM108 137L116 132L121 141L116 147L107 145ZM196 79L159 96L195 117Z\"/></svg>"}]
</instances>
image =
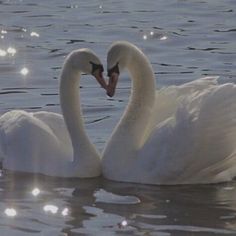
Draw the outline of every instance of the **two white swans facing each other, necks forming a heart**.
<instances>
[{"instance_id":1,"label":"two white swans facing each other, necks forming a heart","mask_svg":"<svg viewBox=\"0 0 236 236\"><path fill-rule=\"evenodd\" d=\"M111 180L144 184L233 179L235 85L219 85L217 78L206 77L156 90L150 62L128 42L112 44L107 68L108 85L94 53L79 50L67 57L60 86L65 123L62 116L48 112L4 114L0 118L4 168L62 177L95 177L102 173ZM100 160L81 119L79 74L93 74L113 96L125 68L132 79L131 98Z\"/></svg>"}]
</instances>

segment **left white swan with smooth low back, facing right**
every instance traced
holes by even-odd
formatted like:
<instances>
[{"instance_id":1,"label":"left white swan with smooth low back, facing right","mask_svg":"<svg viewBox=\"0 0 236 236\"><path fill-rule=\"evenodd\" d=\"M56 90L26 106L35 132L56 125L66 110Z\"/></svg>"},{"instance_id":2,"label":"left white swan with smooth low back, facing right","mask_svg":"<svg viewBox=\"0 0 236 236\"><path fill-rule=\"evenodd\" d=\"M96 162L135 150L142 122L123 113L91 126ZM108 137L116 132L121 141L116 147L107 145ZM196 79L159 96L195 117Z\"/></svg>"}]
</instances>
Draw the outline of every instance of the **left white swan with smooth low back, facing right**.
<instances>
[{"instance_id":1,"label":"left white swan with smooth low back, facing right","mask_svg":"<svg viewBox=\"0 0 236 236\"><path fill-rule=\"evenodd\" d=\"M0 117L0 157L10 171L55 177L95 177L100 156L89 141L79 104L81 72L92 74L103 88L103 67L89 49L71 52L60 78L62 114L12 110Z\"/></svg>"}]
</instances>

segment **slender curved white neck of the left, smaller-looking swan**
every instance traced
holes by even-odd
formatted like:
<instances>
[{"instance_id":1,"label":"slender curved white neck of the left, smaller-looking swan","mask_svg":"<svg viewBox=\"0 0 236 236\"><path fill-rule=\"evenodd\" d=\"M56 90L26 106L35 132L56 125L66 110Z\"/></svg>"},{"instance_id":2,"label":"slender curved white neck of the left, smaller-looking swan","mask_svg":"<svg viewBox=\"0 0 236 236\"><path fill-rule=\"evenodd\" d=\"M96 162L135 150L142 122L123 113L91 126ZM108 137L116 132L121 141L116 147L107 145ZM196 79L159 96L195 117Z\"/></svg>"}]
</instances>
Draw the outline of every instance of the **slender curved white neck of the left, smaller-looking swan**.
<instances>
[{"instance_id":1,"label":"slender curved white neck of the left, smaller-looking swan","mask_svg":"<svg viewBox=\"0 0 236 236\"><path fill-rule=\"evenodd\" d=\"M74 158L94 149L85 132L79 95L80 71L64 65L60 82L60 102L63 117L69 131ZM83 152L84 151L84 152ZM74 160L75 161L75 160Z\"/></svg>"}]
</instances>

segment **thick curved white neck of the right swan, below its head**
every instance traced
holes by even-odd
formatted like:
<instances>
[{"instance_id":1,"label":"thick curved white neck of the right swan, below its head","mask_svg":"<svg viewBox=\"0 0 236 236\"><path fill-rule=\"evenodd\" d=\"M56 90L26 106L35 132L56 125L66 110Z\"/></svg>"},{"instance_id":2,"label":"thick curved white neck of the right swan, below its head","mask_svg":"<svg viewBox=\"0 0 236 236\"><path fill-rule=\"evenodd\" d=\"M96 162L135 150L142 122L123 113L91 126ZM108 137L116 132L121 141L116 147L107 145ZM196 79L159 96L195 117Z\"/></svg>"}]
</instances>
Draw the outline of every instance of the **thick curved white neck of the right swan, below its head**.
<instances>
[{"instance_id":1,"label":"thick curved white neck of the right swan, below its head","mask_svg":"<svg viewBox=\"0 0 236 236\"><path fill-rule=\"evenodd\" d=\"M132 146L138 148L145 141L144 134L154 106L156 84L146 56L136 47L131 47L129 54L130 60L126 67L132 79L131 98L114 135L121 139L127 137L127 142L132 142Z\"/></svg>"}]
</instances>

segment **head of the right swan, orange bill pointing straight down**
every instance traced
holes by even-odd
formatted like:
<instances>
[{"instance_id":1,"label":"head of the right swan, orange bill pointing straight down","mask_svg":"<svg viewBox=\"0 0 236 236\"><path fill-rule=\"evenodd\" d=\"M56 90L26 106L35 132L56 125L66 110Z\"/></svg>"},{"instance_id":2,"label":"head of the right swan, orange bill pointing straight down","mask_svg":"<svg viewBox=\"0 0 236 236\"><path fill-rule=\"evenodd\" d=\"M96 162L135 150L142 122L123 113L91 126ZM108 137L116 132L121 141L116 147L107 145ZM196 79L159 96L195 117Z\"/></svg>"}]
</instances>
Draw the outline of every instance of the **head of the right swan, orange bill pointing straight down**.
<instances>
[{"instance_id":1,"label":"head of the right swan, orange bill pointing straight down","mask_svg":"<svg viewBox=\"0 0 236 236\"><path fill-rule=\"evenodd\" d=\"M120 72L132 61L131 50L134 46L125 41L118 41L111 45L107 54L107 75L109 83L107 95L112 97L115 94L116 85Z\"/></svg>"}]
</instances>

